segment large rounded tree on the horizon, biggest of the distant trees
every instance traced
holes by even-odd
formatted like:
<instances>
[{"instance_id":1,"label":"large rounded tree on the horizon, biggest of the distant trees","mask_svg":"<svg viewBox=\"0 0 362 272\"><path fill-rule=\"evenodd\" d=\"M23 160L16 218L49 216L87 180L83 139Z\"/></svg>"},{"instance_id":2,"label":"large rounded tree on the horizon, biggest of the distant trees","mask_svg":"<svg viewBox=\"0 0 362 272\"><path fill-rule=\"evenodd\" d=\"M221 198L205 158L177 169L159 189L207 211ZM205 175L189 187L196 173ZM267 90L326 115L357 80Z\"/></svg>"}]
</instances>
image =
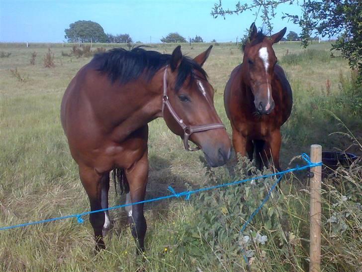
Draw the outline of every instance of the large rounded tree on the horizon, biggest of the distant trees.
<instances>
[{"instance_id":1,"label":"large rounded tree on the horizon, biggest of the distant trees","mask_svg":"<svg viewBox=\"0 0 362 272\"><path fill-rule=\"evenodd\" d=\"M65 29L68 42L105 42L107 35L99 23L93 21L76 21Z\"/></svg>"}]
</instances>

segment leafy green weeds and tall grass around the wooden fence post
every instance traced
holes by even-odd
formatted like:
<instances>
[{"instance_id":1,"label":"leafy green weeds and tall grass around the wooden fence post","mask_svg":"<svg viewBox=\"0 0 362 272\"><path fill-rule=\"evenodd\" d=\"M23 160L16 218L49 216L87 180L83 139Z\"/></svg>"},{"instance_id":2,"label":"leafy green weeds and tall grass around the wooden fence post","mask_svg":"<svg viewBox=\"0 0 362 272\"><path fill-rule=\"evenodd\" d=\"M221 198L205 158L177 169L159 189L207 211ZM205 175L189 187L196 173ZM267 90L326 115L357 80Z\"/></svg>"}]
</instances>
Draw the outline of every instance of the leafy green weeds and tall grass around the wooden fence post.
<instances>
[{"instance_id":1,"label":"leafy green weeds and tall grass around the wooden fence post","mask_svg":"<svg viewBox=\"0 0 362 272\"><path fill-rule=\"evenodd\" d=\"M340 168L324 179L322 194L322 267L326 271L358 271L362 260L362 166ZM246 167L245 167L246 165ZM237 179L268 174L240 158L232 172ZM225 168L208 169L208 186L230 182ZM300 173L295 173L300 176ZM192 195L191 222L181 226L179 252L209 271L307 271L309 267L309 193L282 179L283 192L271 198L242 233L246 220L262 203L275 179L260 179ZM338 186L336 186L338 184ZM349 253L353 250L353 253Z\"/></svg>"}]
</instances>

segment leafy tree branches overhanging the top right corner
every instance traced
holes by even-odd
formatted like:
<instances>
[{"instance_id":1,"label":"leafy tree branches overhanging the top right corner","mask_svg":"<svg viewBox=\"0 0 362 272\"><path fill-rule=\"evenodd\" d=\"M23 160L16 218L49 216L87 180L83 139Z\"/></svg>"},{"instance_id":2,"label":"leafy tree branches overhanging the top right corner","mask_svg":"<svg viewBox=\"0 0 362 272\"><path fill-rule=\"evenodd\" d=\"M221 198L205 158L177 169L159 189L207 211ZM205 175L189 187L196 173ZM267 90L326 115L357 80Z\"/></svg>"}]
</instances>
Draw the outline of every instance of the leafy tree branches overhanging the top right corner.
<instances>
[{"instance_id":1,"label":"leafy tree branches overhanging the top right corner","mask_svg":"<svg viewBox=\"0 0 362 272\"><path fill-rule=\"evenodd\" d=\"M285 13L282 18L287 18L302 28L301 43L306 47L312 34L322 37L339 36L332 44L331 50L341 52L349 61L351 68L359 71L359 80L362 81L362 1L361 0L252 0L250 3L236 3L235 9L223 9L221 0L215 3L211 15L240 14L247 10L254 10L261 17L271 33L271 17L275 17L275 8L282 3L300 5L302 14Z\"/></svg>"}]
</instances>

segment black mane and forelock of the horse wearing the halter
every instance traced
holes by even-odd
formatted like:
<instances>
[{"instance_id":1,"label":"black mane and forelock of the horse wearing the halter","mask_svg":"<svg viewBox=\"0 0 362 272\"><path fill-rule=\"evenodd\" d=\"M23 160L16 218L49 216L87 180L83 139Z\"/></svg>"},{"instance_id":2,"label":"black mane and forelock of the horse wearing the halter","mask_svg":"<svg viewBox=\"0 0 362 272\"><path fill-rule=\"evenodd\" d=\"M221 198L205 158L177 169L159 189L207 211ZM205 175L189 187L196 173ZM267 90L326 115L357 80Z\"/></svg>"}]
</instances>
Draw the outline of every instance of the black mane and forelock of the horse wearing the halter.
<instances>
[{"instance_id":1,"label":"black mane and forelock of the horse wearing the halter","mask_svg":"<svg viewBox=\"0 0 362 272\"><path fill-rule=\"evenodd\" d=\"M128 51L123 48L114 48L104 53L96 54L91 62L95 62L97 70L107 73L112 82L117 80L126 84L138 79L145 72L147 80L151 80L155 73L170 63L170 54L161 54L157 51L148 51L140 47ZM190 76L194 79L194 70L199 71L206 79L207 74L193 59L183 56L178 68L175 89L179 90L184 81Z\"/></svg>"}]
</instances>

